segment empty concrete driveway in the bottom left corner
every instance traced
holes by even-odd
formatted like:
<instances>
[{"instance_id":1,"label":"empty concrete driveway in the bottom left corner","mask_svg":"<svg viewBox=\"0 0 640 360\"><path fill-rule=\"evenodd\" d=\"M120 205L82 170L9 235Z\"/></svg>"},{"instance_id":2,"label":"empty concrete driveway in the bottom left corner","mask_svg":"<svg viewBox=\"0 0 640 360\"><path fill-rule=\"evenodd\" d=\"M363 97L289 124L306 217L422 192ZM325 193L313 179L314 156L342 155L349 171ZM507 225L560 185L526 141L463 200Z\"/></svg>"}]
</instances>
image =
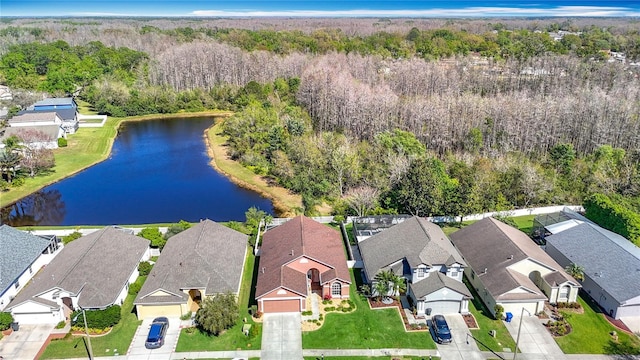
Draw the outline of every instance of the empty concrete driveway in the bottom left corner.
<instances>
[{"instance_id":1,"label":"empty concrete driveway in the bottom left corner","mask_svg":"<svg viewBox=\"0 0 640 360\"><path fill-rule=\"evenodd\" d=\"M18 331L0 340L0 355L5 359L33 360L53 327L54 325L20 325Z\"/></svg>"}]
</instances>

